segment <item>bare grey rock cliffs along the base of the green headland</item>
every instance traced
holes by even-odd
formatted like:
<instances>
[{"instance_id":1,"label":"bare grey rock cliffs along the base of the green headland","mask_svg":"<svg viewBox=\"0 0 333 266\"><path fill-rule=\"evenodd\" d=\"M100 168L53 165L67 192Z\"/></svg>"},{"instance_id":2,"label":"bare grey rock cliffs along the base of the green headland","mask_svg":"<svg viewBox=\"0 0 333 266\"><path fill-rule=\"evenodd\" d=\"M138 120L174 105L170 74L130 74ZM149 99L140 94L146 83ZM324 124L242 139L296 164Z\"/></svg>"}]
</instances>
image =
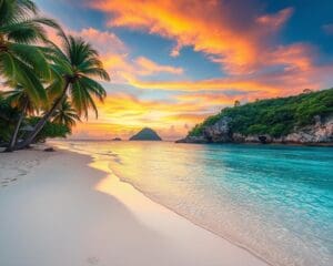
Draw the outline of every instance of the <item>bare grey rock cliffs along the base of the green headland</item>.
<instances>
[{"instance_id":1,"label":"bare grey rock cliffs along the base of the green headland","mask_svg":"<svg viewBox=\"0 0 333 266\"><path fill-rule=\"evenodd\" d=\"M203 129L199 136L186 136L178 143L290 143L290 144L330 144L333 145L333 116L314 117L315 123L295 127L292 133L273 137L269 134L243 135L232 132L230 117L223 117L216 123Z\"/></svg>"}]
</instances>

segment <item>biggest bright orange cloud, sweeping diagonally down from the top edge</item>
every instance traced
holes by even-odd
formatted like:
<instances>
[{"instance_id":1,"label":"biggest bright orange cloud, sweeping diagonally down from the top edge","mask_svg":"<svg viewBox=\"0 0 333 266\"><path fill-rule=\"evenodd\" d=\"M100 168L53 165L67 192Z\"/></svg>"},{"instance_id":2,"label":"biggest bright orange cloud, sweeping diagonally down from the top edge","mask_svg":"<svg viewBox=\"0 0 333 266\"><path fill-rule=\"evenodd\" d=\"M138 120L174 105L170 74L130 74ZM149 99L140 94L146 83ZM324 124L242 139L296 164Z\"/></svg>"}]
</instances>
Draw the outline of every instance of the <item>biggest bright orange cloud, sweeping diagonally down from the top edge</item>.
<instances>
[{"instance_id":1,"label":"biggest bright orange cloud, sweeping diagonally down from the top edge","mask_svg":"<svg viewBox=\"0 0 333 266\"><path fill-rule=\"evenodd\" d=\"M97 0L90 6L110 14L111 27L144 29L175 40L171 55L193 47L223 64L230 72L249 71L261 61L264 38L278 31L291 17L287 8L278 13L253 16L240 25L235 9L223 1L190 0ZM235 16L232 18L232 16Z\"/></svg>"}]
</instances>

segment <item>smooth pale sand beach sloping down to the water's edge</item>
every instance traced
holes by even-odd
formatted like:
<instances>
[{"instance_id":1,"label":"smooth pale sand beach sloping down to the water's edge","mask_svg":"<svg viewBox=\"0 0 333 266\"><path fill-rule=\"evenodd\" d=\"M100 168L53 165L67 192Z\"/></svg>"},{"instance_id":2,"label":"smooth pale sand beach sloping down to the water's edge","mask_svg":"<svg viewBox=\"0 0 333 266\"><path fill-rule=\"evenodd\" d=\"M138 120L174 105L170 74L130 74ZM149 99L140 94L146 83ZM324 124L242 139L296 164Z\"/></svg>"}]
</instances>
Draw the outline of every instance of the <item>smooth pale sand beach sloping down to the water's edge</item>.
<instances>
[{"instance_id":1,"label":"smooth pale sand beach sloping down to the water's edge","mask_svg":"<svg viewBox=\"0 0 333 266\"><path fill-rule=\"evenodd\" d=\"M0 154L1 266L261 266L69 151Z\"/></svg>"}]
</instances>

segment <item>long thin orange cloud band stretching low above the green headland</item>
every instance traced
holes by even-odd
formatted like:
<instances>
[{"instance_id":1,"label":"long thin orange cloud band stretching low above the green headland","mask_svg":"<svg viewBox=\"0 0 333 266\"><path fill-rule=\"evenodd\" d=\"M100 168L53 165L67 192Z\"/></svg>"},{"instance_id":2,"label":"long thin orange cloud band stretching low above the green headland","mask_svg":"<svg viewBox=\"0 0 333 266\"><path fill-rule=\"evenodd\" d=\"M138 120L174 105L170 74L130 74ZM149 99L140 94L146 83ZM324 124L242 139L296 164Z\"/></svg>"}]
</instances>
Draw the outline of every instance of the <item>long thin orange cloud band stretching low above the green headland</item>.
<instances>
[{"instance_id":1,"label":"long thin orange cloud band stretching low above the green headland","mask_svg":"<svg viewBox=\"0 0 333 266\"><path fill-rule=\"evenodd\" d=\"M176 80L176 81L151 81L140 80L135 76L125 75L129 84L142 90L164 90L183 92L251 92L248 101L262 98L285 96L302 92L305 88L320 90L332 84L333 64L314 65L312 60L304 55L309 48L303 44L281 48L274 53L272 61L281 64L280 70L250 75L231 75L230 78L208 80ZM309 49L311 51L311 49ZM309 52L307 51L307 52ZM283 57L286 54L285 57ZM285 58L289 58L287 61ZM204 94L201 94L204 95Z\"/></svg>"}]
</instances>

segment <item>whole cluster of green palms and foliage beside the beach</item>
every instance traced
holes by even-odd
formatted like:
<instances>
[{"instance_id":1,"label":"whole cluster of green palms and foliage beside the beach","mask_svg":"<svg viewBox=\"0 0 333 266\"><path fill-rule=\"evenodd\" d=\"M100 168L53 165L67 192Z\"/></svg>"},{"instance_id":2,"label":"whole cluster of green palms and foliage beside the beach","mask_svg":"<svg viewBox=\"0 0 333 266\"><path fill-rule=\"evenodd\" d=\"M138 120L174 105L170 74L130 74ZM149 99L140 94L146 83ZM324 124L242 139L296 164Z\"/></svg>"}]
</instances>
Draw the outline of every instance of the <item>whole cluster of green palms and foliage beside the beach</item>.
<instances>
[{"instance_id":1,"label":"whole cluster of green palms and foliage beside the beach","mask_svg":"<svg viewBox=\"0 0 333 266\"><path fill-rule=\"evenodd\" d=\"M58 32L61 48L46 27ZM110 80L98 52L40 17L30 0L0 0L0 79L9 88L0 89L0 143L8 151L70 134L90 109L98 114L95 100L107 95L98 80Z\"/></svg>"}]
</instances>

